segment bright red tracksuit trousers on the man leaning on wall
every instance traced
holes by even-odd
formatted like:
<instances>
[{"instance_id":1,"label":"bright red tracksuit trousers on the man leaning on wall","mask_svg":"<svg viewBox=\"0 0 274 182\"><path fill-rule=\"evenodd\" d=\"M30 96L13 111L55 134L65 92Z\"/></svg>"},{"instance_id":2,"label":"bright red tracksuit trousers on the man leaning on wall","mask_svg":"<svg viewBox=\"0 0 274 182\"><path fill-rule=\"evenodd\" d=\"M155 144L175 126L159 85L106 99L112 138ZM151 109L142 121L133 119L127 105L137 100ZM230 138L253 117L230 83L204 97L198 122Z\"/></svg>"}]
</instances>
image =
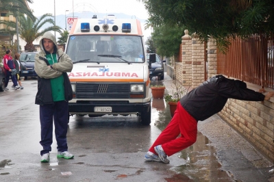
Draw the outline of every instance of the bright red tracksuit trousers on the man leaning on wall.
<instances>
[{"instance_id":1,"label":"bright red tracksuit trousers on the man leaning on wall","mask_svg":"<svg viewBox=\"0 0 274 182\"><path fill-rule=\"evenodd\" d=\"M154 146L162 145L164 153L171 156L191 146L197 140L197 123L197 120L190 116L178 102L171 122L158 136L154 144L149 148L149 151L157 155L154 151ZM179 136L179 134L181 135Z\"/></svg>"}]
</instances>

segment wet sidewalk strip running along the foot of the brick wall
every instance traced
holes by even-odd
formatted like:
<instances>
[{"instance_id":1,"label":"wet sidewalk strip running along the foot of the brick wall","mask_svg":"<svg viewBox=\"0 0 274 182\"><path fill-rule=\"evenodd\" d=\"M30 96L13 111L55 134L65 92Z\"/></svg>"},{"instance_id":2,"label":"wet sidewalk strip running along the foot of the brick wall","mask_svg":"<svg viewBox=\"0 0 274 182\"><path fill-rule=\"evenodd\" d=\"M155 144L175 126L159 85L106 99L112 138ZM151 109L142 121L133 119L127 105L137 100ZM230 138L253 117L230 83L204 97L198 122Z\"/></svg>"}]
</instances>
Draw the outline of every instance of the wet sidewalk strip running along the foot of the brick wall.
<instances>
[{"instance_id":1,"label":"wet sidewalk strip running along the foot of the brick wall","mask_svg":"<svg viewBox=\"0 0 274 182\"><path fill-rule=\"evenodd\" d=\"M163 84L167 93L171 94L174 86L169 75L164 75ZM198 131L212 142L211 145L216 148L216 157L223 170L235 180L253 181L258 175L262 175L262 181L274 181L273 162L266 159L245 138L227 125L218 114L199 121Z\"/></svg>"}]
</instances>

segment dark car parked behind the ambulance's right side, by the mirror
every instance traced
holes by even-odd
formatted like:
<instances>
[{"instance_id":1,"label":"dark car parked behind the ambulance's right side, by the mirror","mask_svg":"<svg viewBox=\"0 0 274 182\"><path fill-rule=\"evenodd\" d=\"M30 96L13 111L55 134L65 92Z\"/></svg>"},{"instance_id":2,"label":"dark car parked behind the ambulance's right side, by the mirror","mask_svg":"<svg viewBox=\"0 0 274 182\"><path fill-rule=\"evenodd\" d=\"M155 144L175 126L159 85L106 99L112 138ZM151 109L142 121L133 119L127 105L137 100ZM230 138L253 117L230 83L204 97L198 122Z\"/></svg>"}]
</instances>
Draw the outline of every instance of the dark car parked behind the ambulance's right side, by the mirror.
<instances>
[{"instance_id":1,"label":"dark car parked behind the ambulance's right side, by the mirror","mask_svg":"<svg viewBox=\"0 0 274 182\"><path fill-rule=\"evenodd\" d=\"M149 55L148 53L146 55L147 61L149 62ZM149 68L149 78L153 78L158 76L159 80L164 79L164 62L160 59L160 56L158 54L156 55L156 60L154 63L151 63L151 67Z\"/></svg>"}]
</instances>

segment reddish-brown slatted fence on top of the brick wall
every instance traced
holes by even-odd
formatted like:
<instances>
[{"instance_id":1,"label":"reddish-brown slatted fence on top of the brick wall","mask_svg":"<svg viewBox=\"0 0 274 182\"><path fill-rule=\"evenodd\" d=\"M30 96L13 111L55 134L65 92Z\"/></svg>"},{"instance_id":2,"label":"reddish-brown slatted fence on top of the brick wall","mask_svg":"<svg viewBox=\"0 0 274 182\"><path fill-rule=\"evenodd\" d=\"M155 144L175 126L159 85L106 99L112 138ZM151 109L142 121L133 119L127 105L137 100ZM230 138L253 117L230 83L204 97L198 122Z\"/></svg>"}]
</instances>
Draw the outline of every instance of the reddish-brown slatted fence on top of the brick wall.
<instances>
[{"instance_id":1,"label":"reddish-brown slatted fence on top of the brick wall","mask_svg":"<svg viewBox=\"0 0 274 182\"><path fill-rule=\"evenodd\" d=\"M236 38L226 54L217 51L217 73L274 88L273 34Z\"/></svg>"}]
</instances>

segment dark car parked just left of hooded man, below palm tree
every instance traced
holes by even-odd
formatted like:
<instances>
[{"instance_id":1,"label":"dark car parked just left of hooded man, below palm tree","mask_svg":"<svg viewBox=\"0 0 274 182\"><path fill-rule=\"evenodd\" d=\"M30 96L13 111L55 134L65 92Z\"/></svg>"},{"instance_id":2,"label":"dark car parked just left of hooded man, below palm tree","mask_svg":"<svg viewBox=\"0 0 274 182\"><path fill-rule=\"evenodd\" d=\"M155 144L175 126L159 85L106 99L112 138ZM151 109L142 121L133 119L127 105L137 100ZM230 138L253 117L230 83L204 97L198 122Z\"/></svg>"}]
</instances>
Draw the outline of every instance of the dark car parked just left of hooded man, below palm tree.
<instances>
[{"instance_id":1,"label":"dark car parked just left of hooded man, below palm tree","mask_svg":"<svg viewBox=\"0 0 274 182\"><path fill-rule=\"evenodd\" d=\"M27 70L22 70L20 77L37 77L37 74L34 70L34 57L37 52L26 52L26 53L21 53L20 55L20 61L23 66L27 68Z\"/></svg>"}]
</instances>

